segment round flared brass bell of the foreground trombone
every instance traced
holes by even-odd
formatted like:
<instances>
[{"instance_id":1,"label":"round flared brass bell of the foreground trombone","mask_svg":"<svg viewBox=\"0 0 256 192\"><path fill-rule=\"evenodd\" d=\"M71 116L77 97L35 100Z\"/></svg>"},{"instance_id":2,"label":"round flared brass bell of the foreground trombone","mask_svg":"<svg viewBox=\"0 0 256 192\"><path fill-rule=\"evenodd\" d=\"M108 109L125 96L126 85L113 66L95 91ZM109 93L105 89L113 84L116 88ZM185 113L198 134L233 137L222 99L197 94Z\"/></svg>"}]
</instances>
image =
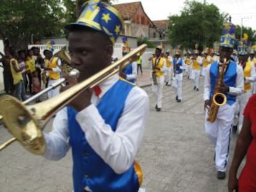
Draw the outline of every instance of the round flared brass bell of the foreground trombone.
<instances>
[{"instance_id":1,"label":"round flared brass bell of the foreground trombone","mask_svg":"<svg viewBox=\"0 0 256 192\"><path fill-rule=\"evenodd\" d=\"M45 138L31 112L18 99L4 95L0 99L0 114L10 133L33 154L45 152Z\"/></svg>"}]
</instances>

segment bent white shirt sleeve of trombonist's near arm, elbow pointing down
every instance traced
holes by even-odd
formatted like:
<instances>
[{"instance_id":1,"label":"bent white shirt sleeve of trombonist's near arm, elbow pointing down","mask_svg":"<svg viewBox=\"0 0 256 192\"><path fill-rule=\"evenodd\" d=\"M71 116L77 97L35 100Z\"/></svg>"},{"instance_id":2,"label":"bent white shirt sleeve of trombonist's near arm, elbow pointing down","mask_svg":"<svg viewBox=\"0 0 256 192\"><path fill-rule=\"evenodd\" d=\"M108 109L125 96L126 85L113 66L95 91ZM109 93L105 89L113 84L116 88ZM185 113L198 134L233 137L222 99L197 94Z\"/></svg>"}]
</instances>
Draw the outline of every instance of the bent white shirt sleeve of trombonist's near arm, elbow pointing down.
<instances>
[{"instance_id":1,"label":"bent white shirt sleeve of trombonist's near arm, elbow pointing down","mask_svg":"<svg viewBox=\"0 0 256 192\"><path fill-rule=\"evenodd\" d=\"M148 117L148 96L138 87L130 91L116 131L105 123L94 104L77 114L93 150L116 173L124 173L134 162Z\"/></svg>"}]
</instances>

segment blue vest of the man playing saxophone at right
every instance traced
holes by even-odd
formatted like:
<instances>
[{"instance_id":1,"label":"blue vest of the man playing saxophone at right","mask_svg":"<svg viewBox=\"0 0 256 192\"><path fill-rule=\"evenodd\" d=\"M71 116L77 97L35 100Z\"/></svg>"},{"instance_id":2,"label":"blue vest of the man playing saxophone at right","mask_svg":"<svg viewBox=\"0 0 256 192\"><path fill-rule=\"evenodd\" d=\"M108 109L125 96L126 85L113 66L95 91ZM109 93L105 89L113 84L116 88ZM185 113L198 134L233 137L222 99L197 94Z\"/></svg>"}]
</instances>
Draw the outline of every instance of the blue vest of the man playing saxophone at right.
<instances>
[{"instance_id":1,"label":"blue vest of the man playing saxophone at right","mask_svg":"<svg viewBox=\"0 0 256 192\"><path fill-rule=\"evenodd\" d=\"M233 61L229 62L228 69L224 74L224 83L227 86L236 86L236 66L237 64ZM213 62L210 67L210 83L211 83L211 91L210 98L213 97L214 88L216 85L216 80L218 78L218 62ZM229 106L233 105L236 102L236 96L232 96L231 94L225 94L228 101Z\"/></svg>"}]
</instances>

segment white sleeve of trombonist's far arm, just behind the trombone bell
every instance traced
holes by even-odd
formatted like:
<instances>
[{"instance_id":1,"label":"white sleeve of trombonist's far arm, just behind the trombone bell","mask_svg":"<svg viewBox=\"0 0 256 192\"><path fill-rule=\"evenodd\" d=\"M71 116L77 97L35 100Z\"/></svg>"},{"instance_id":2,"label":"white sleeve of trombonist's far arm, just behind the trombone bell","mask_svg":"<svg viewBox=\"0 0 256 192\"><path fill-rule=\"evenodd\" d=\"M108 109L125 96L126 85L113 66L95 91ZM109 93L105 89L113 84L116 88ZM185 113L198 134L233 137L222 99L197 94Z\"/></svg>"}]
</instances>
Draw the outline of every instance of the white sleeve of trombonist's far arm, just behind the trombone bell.
<instances>
[{"instance_id":1,"label":"white sleeve of trombonist's far arm, just behind the trombone bell","mask_svg":"<svg viewBox=\"0 0 256 192\"><path fill-rule=\"evenodd\" d=\"M69 151L69 130L67 128L67 107L56 114L53 121L53 130L44 133L46 151L43 156L46 159L57 161L66 156Z\"/></svg>"}]
</instances>

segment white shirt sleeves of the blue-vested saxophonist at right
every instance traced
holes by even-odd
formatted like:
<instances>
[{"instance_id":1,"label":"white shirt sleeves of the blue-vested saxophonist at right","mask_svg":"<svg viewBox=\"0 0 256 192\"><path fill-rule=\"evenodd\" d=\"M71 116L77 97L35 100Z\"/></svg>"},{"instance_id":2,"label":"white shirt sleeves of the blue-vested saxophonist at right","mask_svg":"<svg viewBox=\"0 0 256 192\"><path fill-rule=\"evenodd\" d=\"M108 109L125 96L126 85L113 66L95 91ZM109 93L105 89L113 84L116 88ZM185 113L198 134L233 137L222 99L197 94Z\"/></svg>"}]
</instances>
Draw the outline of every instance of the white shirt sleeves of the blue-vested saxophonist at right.
<instances>
[{"instance_id":1,"label":"white shirt sleeves of the blue-vested saxophonist at right","mask_svg":"<svg viewBox=\"0 0 256 192\"><path fill-rule=\"evenodd\" d=\"M205 68L205 83L203 90L203 100L210 99L211 80L210 80L210 67L208 65ZM242 94L244 91L244 70L240 65L236 65L236 86L229 86L229 94L237 96Z\"/></svg>"}]
</instances>

